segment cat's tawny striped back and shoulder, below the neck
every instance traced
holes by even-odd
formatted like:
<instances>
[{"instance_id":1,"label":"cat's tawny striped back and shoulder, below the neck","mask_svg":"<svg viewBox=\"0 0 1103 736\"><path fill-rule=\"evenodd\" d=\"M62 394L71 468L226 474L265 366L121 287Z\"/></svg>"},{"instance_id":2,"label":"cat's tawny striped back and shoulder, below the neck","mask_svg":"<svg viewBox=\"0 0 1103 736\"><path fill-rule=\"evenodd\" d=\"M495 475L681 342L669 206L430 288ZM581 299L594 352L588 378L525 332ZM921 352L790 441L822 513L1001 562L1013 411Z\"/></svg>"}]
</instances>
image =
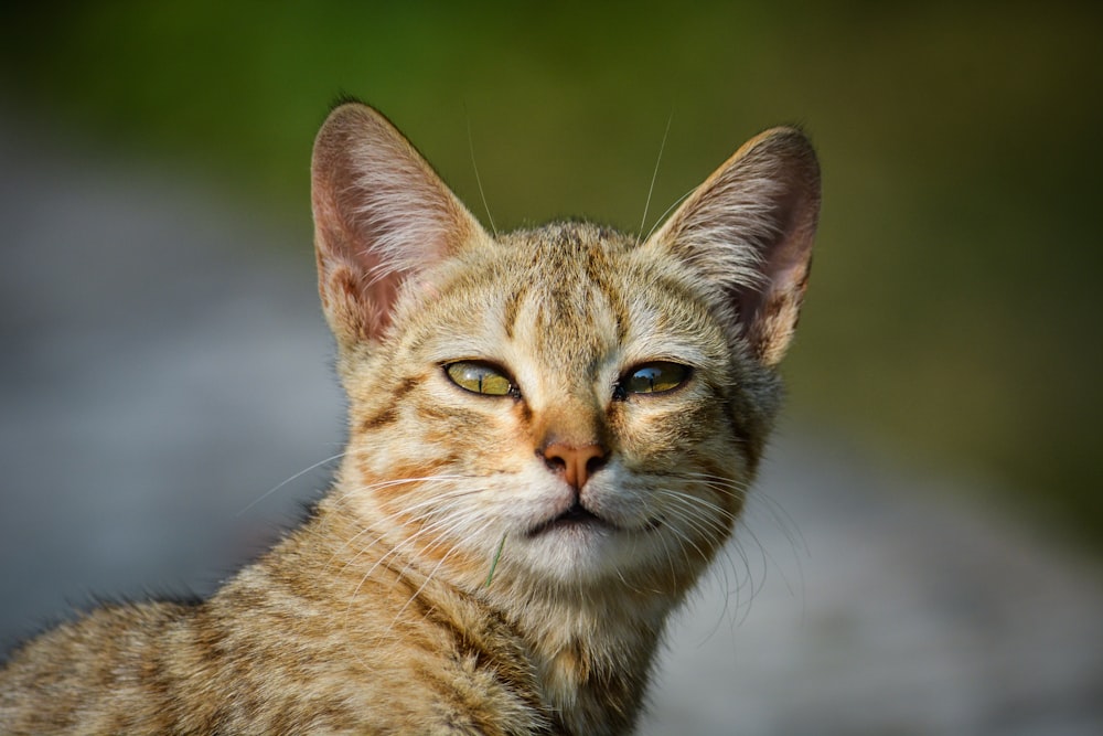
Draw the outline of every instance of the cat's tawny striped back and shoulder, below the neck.
<instances>
[{"instance_id":1,"label":"cat's tawny striped back and shoulder, below the neck","mask_svg":"<svg viewBox=\"0 0 1103 736\"><path fill-rule=\"evenodd\" d=\"M547 733L504 621L413 570L361 577L310 536L210 600L98 608L17 649L0 734ZM371 545L346 554L372 566Z\"/></svg>"}]
</instances>

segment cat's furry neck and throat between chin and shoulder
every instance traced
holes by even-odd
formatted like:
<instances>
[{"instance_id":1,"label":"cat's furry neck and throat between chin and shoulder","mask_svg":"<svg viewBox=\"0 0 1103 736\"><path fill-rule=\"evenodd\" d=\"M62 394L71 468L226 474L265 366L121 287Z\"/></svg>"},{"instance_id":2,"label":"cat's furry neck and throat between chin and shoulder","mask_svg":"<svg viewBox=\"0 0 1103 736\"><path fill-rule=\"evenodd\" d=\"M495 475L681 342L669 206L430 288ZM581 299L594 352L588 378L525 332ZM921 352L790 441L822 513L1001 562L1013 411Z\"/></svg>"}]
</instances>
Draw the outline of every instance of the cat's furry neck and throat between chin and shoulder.
<instances>
[{"instance_id":1,"label":"cat's furry neck and throat between chin and shoulder","mask_svg":"<svg viewBox=\"0 0 1103 736\"><path fill-rule=\"evenodd\" d=\"M387 530L363 523L323 502L307 532L315 542L319 534L330 540L328 567L345 578L334 590L346 589L349 600L338 601L346 614L379 605L431 611L464 637L512 639L528 662L538 700L566 733L624 733L634 723L665 618L681 593L620 582L556 588L506 577L489 587L463 587L387 543L372 544ZM389 595L364 595L368 576L374 579L367 587L390 585ZM377 610L363 615L378 618Z\"/></svg>"}]
</instances>

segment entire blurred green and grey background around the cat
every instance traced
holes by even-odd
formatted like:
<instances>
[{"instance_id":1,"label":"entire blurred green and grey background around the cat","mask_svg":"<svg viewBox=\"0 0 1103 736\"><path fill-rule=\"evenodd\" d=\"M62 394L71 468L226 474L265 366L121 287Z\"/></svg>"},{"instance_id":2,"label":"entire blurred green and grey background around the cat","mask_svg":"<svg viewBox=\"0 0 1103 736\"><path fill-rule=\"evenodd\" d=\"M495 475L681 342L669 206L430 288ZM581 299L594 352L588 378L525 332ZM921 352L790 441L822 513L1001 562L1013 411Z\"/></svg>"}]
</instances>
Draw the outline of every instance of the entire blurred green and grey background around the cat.
<instances>
[{"instance_id":1,"label":"entire blurred green and grey background around the cat","mask_svg":"<svg viewBox=\"0 0 1103 736\"><path fill-rule=\"evenodd\" d=\"M1100 733L1101 38L1061 2L2 11L0 636L210 589L324 488L276 489L342 436L308 177L340 95L499 230L646 232L795 122L786 417L647 733Z\"/></svg>"}]
</instances>

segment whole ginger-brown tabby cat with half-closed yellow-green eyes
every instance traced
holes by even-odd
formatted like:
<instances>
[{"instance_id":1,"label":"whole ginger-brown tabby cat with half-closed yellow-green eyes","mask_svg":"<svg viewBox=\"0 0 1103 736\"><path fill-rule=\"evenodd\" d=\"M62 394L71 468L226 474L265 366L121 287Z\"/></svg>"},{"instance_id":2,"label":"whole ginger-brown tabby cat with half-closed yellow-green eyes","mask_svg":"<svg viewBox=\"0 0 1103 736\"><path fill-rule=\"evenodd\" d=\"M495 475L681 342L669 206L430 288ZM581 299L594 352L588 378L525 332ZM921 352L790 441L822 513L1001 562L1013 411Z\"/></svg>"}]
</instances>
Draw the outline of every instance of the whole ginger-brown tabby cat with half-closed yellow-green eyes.
<instances>
[{"instance_id":1,"label":"whole ginger-brown tabby cat with half-closed yellow-green eyes","mask_svg":"<svg viewBox=\"0 0 1103 736\"><path fill-rule=\"evenodd\" d=\"M623 734L743 505L807 281L806 137L747 142L656 232L491 236L375 109L311 168L349 442L210 599L18 648L3 734Z\"/></svg>"}]
</instances>

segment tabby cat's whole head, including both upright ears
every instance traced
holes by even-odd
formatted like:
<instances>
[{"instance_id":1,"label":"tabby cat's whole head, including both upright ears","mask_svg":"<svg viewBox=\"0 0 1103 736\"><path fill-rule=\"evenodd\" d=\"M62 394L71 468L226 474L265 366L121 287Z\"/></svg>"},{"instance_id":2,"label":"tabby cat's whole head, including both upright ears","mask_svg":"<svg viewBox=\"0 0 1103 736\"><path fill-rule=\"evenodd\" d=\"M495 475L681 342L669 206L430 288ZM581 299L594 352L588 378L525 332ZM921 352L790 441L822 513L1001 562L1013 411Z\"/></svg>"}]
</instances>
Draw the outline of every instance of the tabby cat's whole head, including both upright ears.
<instances>
[{"instance_id":1,"label":"tabby cat's whole head, including both upright ears","mask_svg":"<svg viewBox=\"0 0 1103 736\"><path fill-rule=\"evenodd\" d=\"M350 399L341 503L461 585L496 566L495 585L683 590L777 412L818 203L811 146L779 128L643 243L576 222L492 237L382 115L336 108L313 207Z\"/></svg>"}]
</instances>

